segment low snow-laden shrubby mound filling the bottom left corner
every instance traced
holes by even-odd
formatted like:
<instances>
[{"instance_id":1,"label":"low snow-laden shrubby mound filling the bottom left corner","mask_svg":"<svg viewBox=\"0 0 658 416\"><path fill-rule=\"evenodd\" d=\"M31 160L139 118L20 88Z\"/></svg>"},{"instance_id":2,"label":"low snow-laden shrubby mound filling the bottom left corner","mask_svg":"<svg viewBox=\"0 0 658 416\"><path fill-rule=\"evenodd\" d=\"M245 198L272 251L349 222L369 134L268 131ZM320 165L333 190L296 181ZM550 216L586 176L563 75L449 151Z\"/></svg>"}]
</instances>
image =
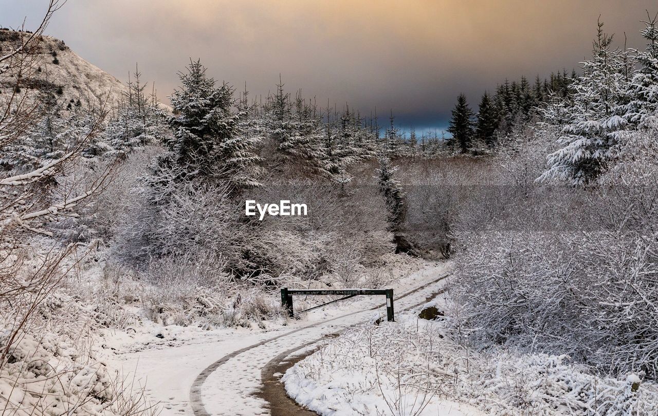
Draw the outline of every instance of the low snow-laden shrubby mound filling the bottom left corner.
<instances>
[{"instance_id":1,"label":"low snow-laden shrubby mound filling the bottom left corner","mask_svg":"<svg viewBox=\"0 0 658 416\"><path fill-rule=\"evenodd\" d=\"M3 415L24 415L25 409L53 416L158 413L140 386L111 372L91 345L80 342L84 334L64 322L55 325L55 330L40 327L39 335L20 333L6 350L7 363L0 370ZM3 349L7 335L0 335Z\"/></svg>"}]
</instances>

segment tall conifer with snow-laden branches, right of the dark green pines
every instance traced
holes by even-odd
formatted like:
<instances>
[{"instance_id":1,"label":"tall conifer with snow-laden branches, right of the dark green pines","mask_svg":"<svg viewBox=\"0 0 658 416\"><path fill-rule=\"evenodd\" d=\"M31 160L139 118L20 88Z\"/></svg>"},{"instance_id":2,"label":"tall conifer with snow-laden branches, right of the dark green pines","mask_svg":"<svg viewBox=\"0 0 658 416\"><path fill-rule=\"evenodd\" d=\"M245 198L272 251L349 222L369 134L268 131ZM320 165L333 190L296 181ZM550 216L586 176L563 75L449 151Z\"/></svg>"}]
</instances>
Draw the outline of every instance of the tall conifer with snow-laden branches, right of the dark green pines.
<instances>
[{"instance_id":1,"label":"tall conifer with snow-laden branches, right of the dark green pines","mask_svg":"<svg viewBox=\"0 0 658 416\"><path fill-rule=\"evenodd\" d=\"M544 111L548 122L561 127L559 149L547 157L542 179L557 178L580 184L600 175L615 158L628 124L622 107L631 62L612 48L613 36L598 23L592 59L582 62L582 76L570 84L570 98L557 98Z\"/></svg>"}]
</instances>

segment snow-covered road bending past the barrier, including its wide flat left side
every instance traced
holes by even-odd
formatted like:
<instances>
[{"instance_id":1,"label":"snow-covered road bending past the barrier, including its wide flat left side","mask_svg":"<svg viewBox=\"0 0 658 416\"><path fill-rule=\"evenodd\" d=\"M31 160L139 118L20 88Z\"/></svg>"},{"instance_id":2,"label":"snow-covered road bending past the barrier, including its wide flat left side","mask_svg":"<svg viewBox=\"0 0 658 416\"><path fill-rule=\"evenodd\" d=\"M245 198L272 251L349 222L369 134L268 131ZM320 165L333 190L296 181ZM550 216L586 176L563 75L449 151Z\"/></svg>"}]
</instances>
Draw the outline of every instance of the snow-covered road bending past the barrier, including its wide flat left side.
<instances>
[{"instance_id":1,"label":"snow-covered road bending past the barrier, including its wide flat left side","mask_svg":"<svg viewBox=\"0 0 658 416\"><path fill-rule=\"evenodd\" d=\"M394 285L395 308L424 303L440 290L446 266L432 265ZM268 332L245 329L208 331L184 344L175 342L122 354L124 371L135 371L145 382L147 396L161 402L163 415L268 415L263 369L286 352L312 348L323 336L368 319L384 317L386 308L377 297L359 298L343 306L309 313L288 327ZM283 354L283 355L282 355Z\"/></svg>"}]
</instances>

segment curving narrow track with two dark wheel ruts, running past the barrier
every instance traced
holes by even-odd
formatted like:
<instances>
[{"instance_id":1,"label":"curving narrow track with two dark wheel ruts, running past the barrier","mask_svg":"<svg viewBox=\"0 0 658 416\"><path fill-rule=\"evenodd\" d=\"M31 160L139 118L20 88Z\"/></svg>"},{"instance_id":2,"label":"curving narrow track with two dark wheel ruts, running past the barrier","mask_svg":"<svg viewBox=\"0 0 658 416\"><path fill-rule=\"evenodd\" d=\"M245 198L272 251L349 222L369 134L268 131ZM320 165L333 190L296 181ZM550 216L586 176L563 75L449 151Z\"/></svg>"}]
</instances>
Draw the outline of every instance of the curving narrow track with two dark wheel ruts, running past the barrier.
<instances>
[{"instance_id":1,"label":"curving narrow track with two dark wheel ruts, running past the barrier","mask_svg":"<svg viewBox=\"0 0 658 416\"><path fill-rule=\"evenodd\" d=\"M409 290L395 298L396 310L422 305L445 290L448 274ZM418 302L418 298L424 299ZM378 304L363 311L307 325L241 348L218 359L197 376L190 389L195 416L211 415L313 415L288 398L278 375L310 354L309 348L324 336L336 336L384 308ZM303 351L303 354L299 354ZM295 354L297 353L297 354ZM236 377L238 376L239 377Z\"/></svg>"}]
</instances>

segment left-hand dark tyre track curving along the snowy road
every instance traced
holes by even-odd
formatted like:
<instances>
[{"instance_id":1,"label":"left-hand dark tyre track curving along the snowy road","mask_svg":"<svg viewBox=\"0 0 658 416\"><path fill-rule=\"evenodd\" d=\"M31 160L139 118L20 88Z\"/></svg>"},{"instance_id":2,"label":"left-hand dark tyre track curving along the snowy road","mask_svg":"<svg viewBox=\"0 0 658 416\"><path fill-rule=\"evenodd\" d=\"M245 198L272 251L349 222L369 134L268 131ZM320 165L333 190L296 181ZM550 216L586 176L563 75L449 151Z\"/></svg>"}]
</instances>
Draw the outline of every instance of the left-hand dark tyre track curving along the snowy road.
<instances>
[{"instance_id":1,"label":"left-hand dark tyre track curving along the snowy road","mask_svg":"<svg viewBox=\"0 0 658 416\"><path fill-rule=\"evenodd\" d=\"M397 296L396 298L394 298L394 300L397 301L397 300L401 300L403 298L406 298L407 296L411 296L412 294L415 294L420 290L426 289L430 285L434 285L435 283L438 283L438 282L442 281L443 279L445 279L448 276L449 276L449 273L446 273L445 275L442 275L438 279L434 279L434 280L432 280L428 283L425 283L424 285L422 285L420 287L417 287L416 289L409 290L408 292L405 292L404 294L401 294L400 296ZM423 303L424 302L420 302L420 304L423 304ZM386 302L384 302L382 304L378 304L377 306L374 306L372 308L368 308L365 311L378 310L379 308L383 308L384 306L386 306ZM418 306L418 304L415 305L415 306ZM411 308L413 308L415 306L411 306ZM319 327L320 325L326 325L327 323L330 323L332 321L338 321L338 319L345 319L346 317L350 317L352 315L357 315L358 313L363 313L365 311L355 311L355 312L351 312L351 313L346 313L345 315L340 315L338 317L327 319L326 321L320 321L320 322L313 323L311 325L307 325L305 327L297 328L297 329L294 329L293 331L289 331L288 333L278 335L278 336L273 336L272 338L268 338L268 339L263 340L261 342L257 342L256 344L252 344L252 345L247 346L245 348L241 348L240 350L236 350L236 351L234 351L230 354L227 354L226 356L223 356L222 358L218 359L217 361L215 361L214 363L212 363L211 365L209 365L208 367L203 369L203 371L201 371L201 373L199 373L197 378L192 383L192 386L190 388L190 405L191 405L191 409L192 409L194 415L195 416L211 416L211 413L209 413L209 411L207 411L205 405L203 404L203 400L202 400L202 397L201 397L202 396L201 388L202 388L203 384L207 381L207 379L219 367L221 367L224 363L226 363L230 359L236 358L236 357L240 356L240 354L248 352L249 350L253 350L254 348L258 348L258 347L263 346L265 344L268 344L270 342L275 342L276 340L280 340L280 338L284 338L286 336L293 335L295 333L299 333L301 331L305 331L307 329L311 329L311 328L314 328L314 327ZM322 338L323 337L316 338L315 340L313 340L311 342L305 342L304 344L310 345L310 344L313 344L315 342L318 342L318 341L322 340ZM299 349L299 348L303 348L303 346L302 347L297 346L297 349ZM236 413L231 413L231 414L236 414Z\"/></svg>"}]
</instances>

